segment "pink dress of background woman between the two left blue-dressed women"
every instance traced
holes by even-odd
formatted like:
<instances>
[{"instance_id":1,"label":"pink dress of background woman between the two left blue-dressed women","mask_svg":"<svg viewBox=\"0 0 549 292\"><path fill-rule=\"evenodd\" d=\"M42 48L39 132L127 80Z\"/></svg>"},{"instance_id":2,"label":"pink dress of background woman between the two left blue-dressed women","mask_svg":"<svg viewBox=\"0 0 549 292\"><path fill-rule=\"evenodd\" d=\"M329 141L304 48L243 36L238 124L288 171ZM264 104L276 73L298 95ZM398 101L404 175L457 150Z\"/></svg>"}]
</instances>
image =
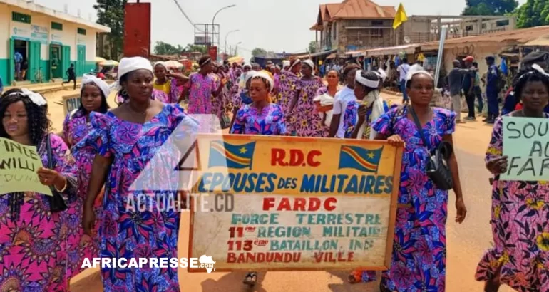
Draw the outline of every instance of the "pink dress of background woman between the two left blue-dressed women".
<instances>
[{"instance_id":1,"label":"pink dress of background woman between the two left blue-dressed women","mask_svg":"<svg viewBox=\"0 0 549 292\"><path fill-rule=\"evenodd\" d=\"M188 108L190 114L212 113L212 93L217 90L216 84L219 87L214 74L195 73L190 75L190 80L187 83L190 88Z\"/></svg>"}]
</instances>

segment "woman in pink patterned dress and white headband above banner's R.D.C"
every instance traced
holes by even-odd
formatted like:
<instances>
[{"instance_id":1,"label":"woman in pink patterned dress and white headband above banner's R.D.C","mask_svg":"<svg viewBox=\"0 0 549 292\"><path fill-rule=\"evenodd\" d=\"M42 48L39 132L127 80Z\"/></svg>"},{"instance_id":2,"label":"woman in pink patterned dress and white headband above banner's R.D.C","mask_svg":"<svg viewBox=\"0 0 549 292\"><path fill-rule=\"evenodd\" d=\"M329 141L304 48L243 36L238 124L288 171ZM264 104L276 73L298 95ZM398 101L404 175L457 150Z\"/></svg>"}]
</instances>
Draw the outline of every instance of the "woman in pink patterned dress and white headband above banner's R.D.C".
<instances>
[{"instance_id":1,"label":"woman in pink patterned dress and white headband above banner's R.D.C","mask_svg":"<svg viewBox=\"0 0 549 292\"><path fill-rule=\"evenodd\" d=\"M292 118L292 130L299 137L328 137L328 127L322 122L314 105L319 88L324 87L322 79L314 76L314 63L304 61L302 78L299 80L299 94L294 95L287 116Z\"/></svg>"}]
</instances>

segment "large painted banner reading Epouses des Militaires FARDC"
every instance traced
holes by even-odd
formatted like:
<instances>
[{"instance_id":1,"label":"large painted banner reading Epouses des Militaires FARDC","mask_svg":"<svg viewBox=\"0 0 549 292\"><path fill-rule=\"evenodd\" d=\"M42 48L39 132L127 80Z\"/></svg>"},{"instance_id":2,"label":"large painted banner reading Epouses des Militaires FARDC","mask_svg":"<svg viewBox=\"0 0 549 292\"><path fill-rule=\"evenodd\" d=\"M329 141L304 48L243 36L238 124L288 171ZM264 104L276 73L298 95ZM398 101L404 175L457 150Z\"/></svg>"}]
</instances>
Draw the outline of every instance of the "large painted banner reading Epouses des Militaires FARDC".
<instances>
[{"instance_id":1,"label":"large painted banner reading Epouses des Militaires FARDC","mask_svg":"<svg viewBox=\"0 0 549 292\"><path fill-rule=\"evenodd\" d=\"M243 135L197 141L195 192L234 194L234 202L214 212L210 195L211 212L191 206L189 257L211 257L215 271L389 268L401 147Z\"/></svg>"}]
</instances>

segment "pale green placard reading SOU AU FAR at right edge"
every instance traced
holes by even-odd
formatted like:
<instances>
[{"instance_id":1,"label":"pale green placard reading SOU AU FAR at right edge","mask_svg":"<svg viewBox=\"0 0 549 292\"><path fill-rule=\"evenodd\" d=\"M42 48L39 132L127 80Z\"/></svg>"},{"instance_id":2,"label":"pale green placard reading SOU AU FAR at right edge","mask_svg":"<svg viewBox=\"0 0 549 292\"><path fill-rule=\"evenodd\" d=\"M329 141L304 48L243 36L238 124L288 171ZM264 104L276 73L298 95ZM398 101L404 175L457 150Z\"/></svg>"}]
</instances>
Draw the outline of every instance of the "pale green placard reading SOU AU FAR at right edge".
<instances>
[{"instance_id":1,"label":"pale green placard reading SOU AU FAR at right edge","mask_svg":"<svg viewBox=\"0 0 549 292\"><path fill-rule=\"evenodd\" d=\"M503 155L502 180L549 181L549 119L504 117Z\"/></svg>"}]
</instances>

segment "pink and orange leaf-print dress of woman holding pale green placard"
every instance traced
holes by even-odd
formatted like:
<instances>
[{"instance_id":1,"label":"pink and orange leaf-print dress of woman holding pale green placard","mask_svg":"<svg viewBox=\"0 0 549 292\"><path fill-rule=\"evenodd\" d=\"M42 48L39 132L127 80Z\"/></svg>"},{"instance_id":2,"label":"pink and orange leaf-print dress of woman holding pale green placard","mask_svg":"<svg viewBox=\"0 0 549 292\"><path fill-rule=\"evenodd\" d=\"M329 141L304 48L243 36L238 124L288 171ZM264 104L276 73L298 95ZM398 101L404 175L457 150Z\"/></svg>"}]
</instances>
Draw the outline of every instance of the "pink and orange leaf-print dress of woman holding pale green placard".
<instances>
[{"instance_id":1,"label":"pink and orange leaf-print dress of woman holding pale green placard","mask_svg":"<svg viewBox=\"0 0 549 292\"><path fill-rule=\"evenodd\" d=\"M549 118L547 113L545 118ZM502 155L503 119L496 118L486 162ZM491 218L494 246L478 264L475 275L478 281L490 281L501 268L499 281L516 291L549 291L547 202L547 182L494 179Z\"/></svg>"}]
</instances>

